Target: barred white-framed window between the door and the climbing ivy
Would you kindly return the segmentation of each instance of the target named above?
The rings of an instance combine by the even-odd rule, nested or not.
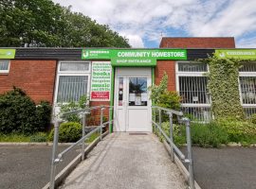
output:
[[[209,122],[211,118],[207,72],[206,63],[185,61],[176,64],[176,89],[182,98],[182,111],[194,121]]]

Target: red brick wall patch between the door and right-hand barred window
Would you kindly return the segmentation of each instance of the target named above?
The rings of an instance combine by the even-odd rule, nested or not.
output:
[[[157,60],[155,67],[155,84],[159,85],[164,72],[168,75],[168,90],[175,91],[175,61],[174,60]]]

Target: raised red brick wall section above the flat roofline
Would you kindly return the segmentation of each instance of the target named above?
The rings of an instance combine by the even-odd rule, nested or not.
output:
[[[160,48],[235,48],[230,38],[162,38]]]

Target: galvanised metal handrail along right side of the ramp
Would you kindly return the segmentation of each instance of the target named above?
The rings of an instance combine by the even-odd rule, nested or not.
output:
[[[187,150],[188,150],[188,158],[179,150],[179,148],[174,144],[174,127],[173,127],[173,115],[176,114],[178,116],[182,116],[183,112],[174,111],[171,109],[166,109],[162,107],[153,106],[152,109],[158,110],[159,120],[158,124],[156,120],[152,120],[153,125],[155,126],[155,130],[158,129],[160,133],[164,136],[166,141],[169,143],[171,147],[171,157],[174,162],[174,151],[178,155],[178,157],[184,162],[189,163],[189,184],[190,188],[194,189],[194,180],[193,180],[193,168],[192,168],[192,139],[191,139],[191,120],[187,117],[183,117],[181,122],[186,126],[186,140],[187,140]],[[167,112],[169,114],[169,122],[170,122],[170,137],[165,133],[165,131],[161,128],[162,120],[161,120],[161,112]]]

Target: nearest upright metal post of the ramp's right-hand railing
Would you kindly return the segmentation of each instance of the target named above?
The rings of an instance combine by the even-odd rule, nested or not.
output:
[[[193,180],[193,170],[192,170],[192,138],[191,138],[191,120],[189,118],[184,118],[186,126],[186,135],[187,135],[187,148],[188,148],[188,159],[189,159],[189,182],[191,189],[194,189],[194,180]]]

